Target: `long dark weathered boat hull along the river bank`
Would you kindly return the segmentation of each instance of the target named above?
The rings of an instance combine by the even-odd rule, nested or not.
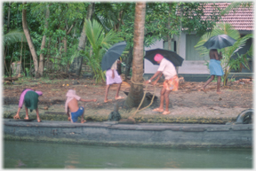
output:
[[[118,124],[4,120],[4,138],[76,144],[252,148],[252,124]]]

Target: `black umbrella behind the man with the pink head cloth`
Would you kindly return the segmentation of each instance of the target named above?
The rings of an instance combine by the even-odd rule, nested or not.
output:
[[[146,51],[146,55],[144,58],[147,58],[154,65],[158,65],[154,60],[156,54],[159,53],[164,56],[167,60],[171,61],[174,66],[181,66],[184,58],[180,57],[175,51],[168,51],[163,49],[155,49]]]

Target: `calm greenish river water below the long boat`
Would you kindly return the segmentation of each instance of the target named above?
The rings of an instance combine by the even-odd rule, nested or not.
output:
[[[4,168],[252,168],[252,149],[174,149],[4,140]]]

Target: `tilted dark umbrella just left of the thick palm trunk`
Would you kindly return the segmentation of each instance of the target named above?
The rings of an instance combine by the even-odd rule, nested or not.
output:
[[[110,67],[116,62],[116,60],[122,55],[124,48],[126,47],[125,42],[116,43],[104,54],[101,61],[102,71],[110,69]]]

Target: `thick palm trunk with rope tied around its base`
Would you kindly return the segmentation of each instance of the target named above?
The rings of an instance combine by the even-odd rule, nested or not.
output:
[[[136,3],[134,19],[134,47],[132,59],[132,85],[124,105],[138,107],[143,97],[143,50],[146,2]],[[135,82],[135,83],[133,83]],[[146,101],[144,101],[146,102]],[[145,106],[144,103],[141,106]]]

